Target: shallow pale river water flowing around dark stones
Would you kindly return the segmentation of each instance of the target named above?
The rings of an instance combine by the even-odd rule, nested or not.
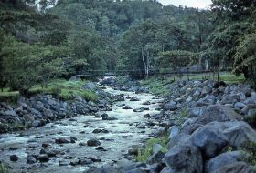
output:
[[[125,92],[113,90],[110,87],[105,89],[112,95],[123,94],[125,97],[137,97],[140,101],[116,102],[112,105],[112,111],[106,112],[109,117],[116,117],[117,120],[105,121],[94,116],[80,116],[70,119],[64,119],[59,122],[50,123],[44,127],[30,128],[25,131],[0,135],[0,160],[3,160],[10,166],[10,172],[83,172],[91,167],[99,167],[107,162],[127,159],[129,148],[134,145],[142,145],[146,139],[154,134],[158,126],[145,126],[148,119],[144,118],[145,114],[157,114],[155,110],[159,107],[160,99],[155,99],[150,94],[134,94],[133,92]],[[152,104],[144,106],[143,103],[149,101]],[[144,112],[133,112],[133,109],[124,110],[122,104],[134,108],[148,107],[149,110]],[[104,113],[104,112],[100,112]],[[87,125],[86,127],[84,127]],[[141,126],[138,126],[141,125]],[[109,133],[92,133],[94,129],[106,129]],[[59,145],[55,143],[58,137],[76,137],[76,143]],[[101,147],[105,150],[96,150],[96,147],[87,145],[80,146],[79,143],[85,143],[91,137],[95,137],[101,141]],[[56,157],[50,158],[48,162],[27,164],[27,154],[39,154],[42,144],[48,143],[47,149],[58,151]],[[10,148],[15,148],[12,150]],[[10,155],[17,155],[16,162],[10,161]],[[92,157],[100,158],[100,162],[93,162],[89,165],[65,165],[59,166],[59,162],[69,163],[75,158]],[[72,158],[72,159],[70,159]]]

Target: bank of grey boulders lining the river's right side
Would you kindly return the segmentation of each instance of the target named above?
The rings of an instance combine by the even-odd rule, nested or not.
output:
[[[255,172],[256,93],[250,86],[196,80],[166,88],[161,113],[149,118],[170,126],[167,145],[152,145],[144,163],[87,172]]]

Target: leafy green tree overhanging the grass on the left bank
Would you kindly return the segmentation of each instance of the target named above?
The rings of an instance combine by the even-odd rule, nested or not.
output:
[[[68,55],[60,47],[29,45],[6,36],[0,56],[7,86],[23,92],[38,82],[46,86],[50,78],[64,73],[62,66]]]

